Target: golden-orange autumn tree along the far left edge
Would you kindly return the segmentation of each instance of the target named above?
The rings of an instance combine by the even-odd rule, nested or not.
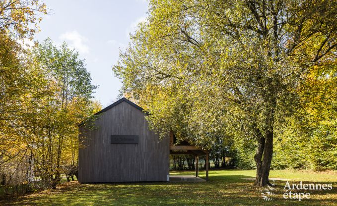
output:
[[[32,39],[40,14],[46,13],[46,5],[39,0],[0,1],[0,175],[5,193],[8,185],[15,186],[14,194],[19,184],[31,180],[34,104],[29,100],[39,80],[19,43]]]

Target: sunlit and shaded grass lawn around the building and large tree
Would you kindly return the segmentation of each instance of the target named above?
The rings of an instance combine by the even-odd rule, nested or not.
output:
[[[193,175],[194,172],[171,172],[171,175]],[[203,171],[200,177],[205,177]],[[265,201],[261,196],[262,188],[255,187],[252,181],[241,179],[255,177],[254,170],[210,170],[208,182],[197,183],[124,183],[124,184],[62,184],[57,190],[48,190],[19,197],[10,201],[0,201],[0,205],[26,206],[138,206],[138,205],[209,205],[209,206],[325,206],[337,203],[337,172],[312,172],[305,170],[273,170],[270,177],[290,179],[291,183],[313,182],[332,183],[332,190],[297,191],[309,192],[309,200],[285,200],[283,190],[285,182],[275,181],[275,196]],[[296,191],[292,191],[296,192]]]

